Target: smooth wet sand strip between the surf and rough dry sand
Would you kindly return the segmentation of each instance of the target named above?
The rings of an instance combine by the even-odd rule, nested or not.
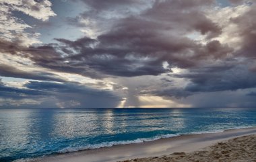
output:
[[[102,147],[99,149],[88,149],[69,153],[59,153],[38,157],[34,159],[23,159],[18,161],[31,162],[99,162],[99,161],[124,161],[127,159],[136,159],[142,157],[153,157],[169,155],[174,152],[193,152],[214,145],[223,140],[236,138],[238,136],[256,134],[256,127],[235,128],[222,130],[222,132],[207,132],[201,134],[181,134],[169,138],[160,138],[157,140],[143,143],[131,143],[125,145],[114,145],[111,147]]]

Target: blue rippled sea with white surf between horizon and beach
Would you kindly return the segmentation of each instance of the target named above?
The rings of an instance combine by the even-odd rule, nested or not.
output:
[[[0,110],[0,161],[256,126],[256,109]]]

